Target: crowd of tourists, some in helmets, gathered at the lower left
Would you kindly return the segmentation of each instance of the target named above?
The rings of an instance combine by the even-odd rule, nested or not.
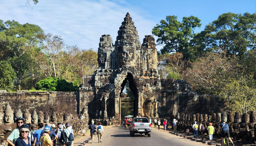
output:
[[[23,117],[16,119],[17,128],[14,129],[7,138],[7,143],[11,146],[72,146],[74,132],[70,123],[65,125],[58,123],[58,130],[55,124],[38,123],[38,130],[33,131],[30,124],[25,124]]]

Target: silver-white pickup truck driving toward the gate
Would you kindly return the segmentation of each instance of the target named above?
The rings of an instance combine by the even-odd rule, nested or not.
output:
[[[145,134],[151,137],[151,123],[147,118],[133,118],[130,124],[130,135],[134,137],[135,133]]]

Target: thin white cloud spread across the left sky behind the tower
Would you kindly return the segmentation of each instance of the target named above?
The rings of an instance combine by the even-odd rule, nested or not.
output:
[[[157,22],[143,17],[139,7],[122,6],[108,0],[40,0],[37,5],[25,5],[26,0],[1,0],[0,19],[32,23],[46,33],[61,35],[66,45],[80,49],[98,50],[99,38],[110,34],[113,43],[117,31],[129,12],[142,43],[144,35],[151,35]]]

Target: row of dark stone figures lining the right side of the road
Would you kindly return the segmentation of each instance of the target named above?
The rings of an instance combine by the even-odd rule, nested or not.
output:
[[[219,128],[222,119],[226,120],[226,123],[229,126],[230,135],[234,141],[242,139],[244,141],[256,142],[256,112],[249,111],[248,113],[240,114],[235,112],[233,115],[232,111],[217,113],[213,115],[207,114],[179,114],[177,113],[175,119],[178,120],[177,129],[185,131],[187,128],[190,128],[192,131],[192,126],[194,121],[204,124],[208,127],[209,123],[212,123],[215,130]]]

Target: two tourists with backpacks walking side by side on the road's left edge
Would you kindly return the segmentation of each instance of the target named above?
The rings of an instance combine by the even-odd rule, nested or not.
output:
[[[94,120],[92,120],[92,123],[89,125],[89,129],[90,129],[90,134],[92,139],[91,143],[94,143],[93,141],[94,141],[95,135],[98,135],[99,143],[102,142],[101,138],[102,138],[102,135],[104,134],[102,123],[99,122],[97,125],[95,125]]]

